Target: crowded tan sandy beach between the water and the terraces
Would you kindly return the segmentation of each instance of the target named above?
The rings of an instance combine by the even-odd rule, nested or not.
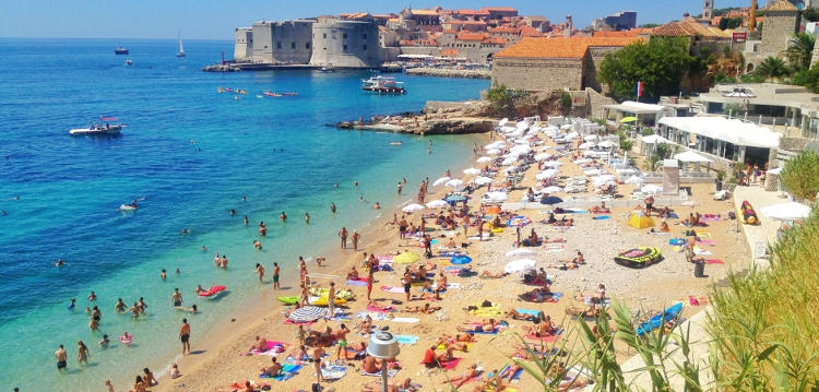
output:
[[[554,146],[555,143],[541,135],[542,142],[533,142],[533,149],[546,145]],[[488,143],[486,138],[485,143]],[[497,140],[497,136],[496,139]],[[541,144],[542,143],[542,144]],[[554,150],[553,150],[554,151]],[[482,150],[479,153],[483,153]],[[483,155],[483,154],[482,154]],[[474,176],[462,174],[462,169],[474,166],[477,168],[486,167],[486,164],[472,162],[464,163],[461,168],[451,168],[452,177],[460,177],[468,182]],[[574,177],[582,176],[582,169],[572,163],[570,156],[560,157],[559,176]],[[490,164],[491,165],[491,164]],[[517,202],[521,200],[530,187],[535,187],[538,180],[535,179],[538,167],[537,163],[532,164],[525,173],[522,174],[520,182],[509,192],[509,201]],[[499,166],[502,170],[505,167]],[[447,168],[441,168],[440,176],[444,175]],[[430,177],[430,181],[436,178]],[[503,180],[503,173],[498,171],[495,177],[492,188]],[[563,181],[559,180],[558,182]],[[412,198],[415,202],[415,192],[417,183],[406,183],[404,186],[402,201]],[[429,193],[426,201],[440,199],[443,192],[451,190],[443,186],[429,186]],[[629,198],[632,187],[620,183],[618,193],[626,199]],[[410,304],[395,305],[399,310],[391,313],[394,318],[408,318],[408,322],[397,322],[390,319],[377,320],[378,326],[389,326],[389,332],[396,335],[417,336],[414,344],[402,344],[401,354],[397,359],[401,364],[401,370],[391,378],[391,382],[403,382],[405,379],[412,379],[413,383],[420,387],[417,390],[434,391],[447,390],[447,381],[461,376],[467,371],[473,364],[483,369],[482,379],[486,379],[488,372],[501,370],[510,363],[508,356],[519,344],[515,334],[526,334],[526,328],[534,325],[530,321],[512,320],[502,316],[486,316],[497,319],[503,319],[508,326],[502,329],[498,334],[476,334],[477,341],[472,343],[466,352],[455,351],[454,356],[461,358],[460,363],[451,370],[428,369],[420,365],[425,352],[430,348],[442,335],[454,335],[459,326],[467,326],[464,323],[470,321],[483,320],[480,316],[468,314],[464,308],[480,304],[485,300],[499,304],[502,312],[515,308],[525,308],[536,311],[543,311],[551,317],[553,321],[560,325],[568,325],[573,322],[566,316],[566,309],[569,307],[584,307],[583,298],[580,294],[593,295],[598,284],[604,284],[608,297],[621,299],[633,309],[643,311],[662,310],[675,301],[684,301],[686,307],[684,317],[690,317],[699,309],[697,306],[689,306],[689,296],[702,297],[707,294],[709,287],[723,278],[728,269],[743,269],[745,265],[735,265],[735,262],[744,259],[743,254],[748,253],[748,247],[741,233],[734,228],[735,221],[725,218],[728,211],[733,210],[731,201],[712,200],[713,185],[693,185],[691,186],[691,198],[696,205],[674,206],[673,211],[681,218],[686,218],[691,212],[700,214],[721,215],[719,221],[708,222],[708,227],[698,229],[708,231],[703,238],[705,241],[698,247],[710,254],[704,258],[710,260],[720,260],[722,263],[710,263],[705,266],[707,277],[693,277],[693,264],[686,262],[682,252],[674,249],[669,245],[670,238],[685,237],[682,233],[688,227],[680,224],[681,219],[667,219],[670,234],[652,234],[649,228],[638,229],[627,224],[628,217],[632,212],[629,207],[613,207],[610,213],[605,214],[609,218],[598,219],[600,214],[592,213],[572,213],[566,216],[574,219],[571,227],[555,227],[544,221],[548,217],[545,210],[520,210],[514,215],[522,215],[531,219],[531,224],[521,228],[521,237],[530,234],[534,229],[541,237],[546,236],[550,240],[562,239],[562,242],[547,242],[544,247],[529,247],[535,252],[531,259],[537,262],[537,268],[544,268],[548,275],[554,275],[550,289],[553,293],[561,293],[562,297],[556,302],[529,302],[521,299],[520,295],[530,292],[535,286],[525,285],[522,282],[521,274],[512,273],[499,278],[482,278],[477,274],[484,270],[490,273],[501,273],[507,262],[511,261],[507,257],[508,251],[517,248],[517,233],[514,227],[506,227],[494,234],[492,237],[484,241],[477,241],[471,238],[477,235],[476,227],[470,227],[467,235],[464,236],[463,228],[460,227],[461,221],[456,219],[459,227],[455,230],[442,230],[439,225],[435,224],[435,218],[427,218],[428,234],[438,239],[432,245],[432,252],[436,257],[428,259],[435,264],[438,273],[452,266],[449,258],[437,257],[444,241],[452,238],[455,243],[466,245],[462,249],[463,253],[472,258],[470,268],[475,274],[447,274],[448,282],[454,284],[441,294],[441,300],[427,301],[422,299],[412,300]],[[482,207],[482,195],[487,192],[486,187],[479,187],[470,197],[468,206],[471,212],[479,211]],[[562,192],[553,193],[565,198]],[[402,203],[403,204],[403,203]],[[661,203],[657,203],[661,204]],[[690,203],[695,204],[695,203]],[[423,213],[438,213],[440,210],[427,209]],[[400,206],[394,211],[399,216],[402,215]],[[368,337],[355,333],[353,326],[361,320],[357,319],[356,313],[365,310],[367,307],[366,288],[361,286],[351,286],[345,282],[346,272],[355,265],[360,275],[364,277],[363,268],[364,252],[379,256],[394,254],[396,251],[405,252],[412,250],[423,254],[423,248],[419,247],[418,239],[400,239],[397,227],[389,224],[392,219],[393,211],[384,210],[381,218],[371,223],[365,231],[361,231],[361,246],[357,252],[348,249],[330,249],[323,252],[327,257],[327,266],[318,268],[314,261],[308,262],[310,273],[327,275],[337,275],[334,280],[340,289],[352,290],[356,299],[346,304],[345,313],[351,317],[343,321],[324,321],[319,320],[309,328],[313,331],[323,331],[327,326],[337,330],[341,322],[353,331],[348,337],[349,346],[358,345],[366,342]],[[419,224],[422,212],[416,212],[406,216],[407,221]],[[485,217],[491,218],[494,214],[485,214]],[[557,214],[560,218],[563,214]],[[658,225],[660,217],[654,217]],[[506,219],[503,221],[506,223]],[[429,229],[432,229],[431,231]],[[655,229],[657,226],[655,226]],[[349,246],[349,245],[348,245]],[[662,250],[664,260],[655,265],[645,269],[630,269],[615,263],[614,258],[621,251],[636,247],[655,247]],[[571,260],[577,251],[581,251],[585,259],[585,264],[577,269],[560,270],[557,268],[560,261]],[[322,254],[317,250],[317,254]],[[306,254],[314,257],[316,254]],[[424,259],[422,259],[424,260]],[[419,262],[410,264],[415,265]],[[245,380],[254,383],[269,384],[272,391],[309,391],[312,382],[316,382],[316,376],[312,364],[305,364],[292,378],[286,381],[276,381],[273,379],[259,378],[260,369],[270,366],[271,355],[247,355],[249,348],[254,343],[256,336],[263,336],[268,341],[284,342],[289,346],[286,352],[276,356],[280,363],[293,353],[294,344],[298,345],[296,335],[297,325],[285,324],[286,317],[283,311],[288,307],[282,305],[276,297],[278,296],[298,296],[298,275],[296,271],[283,271],[282,289],[274,290],[271,283],[272,261],[264,265],[268,270],[265,274],[266,288],[264,293],[256,298],[252,304],[246,307],[237,308],[230,320],[218,324],[211,330],[207,335],[203,336],[195,331],[193,325],[192,351],[194,355],[179,358],[176,363],[182,373],[180,378],[170,379],[167,375],[159,378],[159,383],[152,388],[153,391],[233,391],[230,387],[235,382],[244,385]],[[388,293],[379,289],[381,286],[401,286],[402,273],[405,264],[393,264],[392,272],[377,272],[375,274],[375,288],[372,297],[379,304],[389,304],[390,301],[403,301],[403,293]],[[436,277],[437,278],[437,277]],[[318,278],[314,284],[320,287],[328,287],[330,278]],[[412,295],[419,298],[419,288],[413,287]],[[701,305],[702,299],[700,300]],[[442,309],[431,314],[419,314],[403,311],[407,306],[439,306]],[[488,314],[488,313],[485,313]],[[414,320],[417,319],[417,320]],[[307,328],[307,326],[306,326]],[[311,353],[311,347],[308,352]],[[336,347],[329,347],[325,351],[330,354],[329,358],[335,360]],[[442,349],[437,349],[436,354],[442,354]],[[619,354],[627,358],[630,356],[625,348],[620,348]],[[633,354],[633,353],[632,353]],[[341,364],[340,364],[341,365]],[[359,391],[364,384],[379,382],[378,377],[365,376],[361,373],[361,360],[343,360],[346,366],[346,375],[332,382],[322,382],[324,390],[336,391]],[[473,390],[483,383],[482,380],[475,379],[466,382],[460,390]],[[531,376],[523,373],[519,379],[511,382],[513,389],[509,390],[533,390],[536,381]]]

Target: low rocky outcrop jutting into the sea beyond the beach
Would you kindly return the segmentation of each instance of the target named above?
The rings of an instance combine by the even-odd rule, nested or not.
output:
[[[498,120],[483,116],[483,100],[428,102],[420,114],[404,112],[342,121],[340,129],[412,134],[467,134],[491,132]]]

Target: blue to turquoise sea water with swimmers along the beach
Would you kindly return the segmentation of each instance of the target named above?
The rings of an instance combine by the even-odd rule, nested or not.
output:
[[[117,45],[131,55],[115,56]],[[0,39],[0,210],[8,213],[0,215],[0,388],[99,390],[100,380],[130,380],[146,364],[170,359],[182,317],[169,306],[174,287],[203,311],[191,318],[195,337],[264,289],[252,284],[257,262],[269,274],[273,261],[293,269],[297,256],[334,245],[341,226],[363,228],[376,217],[372,202],[399,202],[402,177],[414,190],[472,154],[470,138],[325,123],[419,110],[427,99],[477,98],[488,87],[482,80],[397,75],[408,94],[378,96],[359,90],[368,72],[204,73],[199,69],[232,52],[232,44],[186,41],[186,49],[188,58],[177,59],[174,40]],[[132,67],[123,66],[127,58]],[[217,94],[219,86],[248,94],[235,99]],[[264,90],[299,95],[257,98]],[[118,116],[128,128],[118,139],[68,135],[99,115]],[[404,144],[389,144],[396,140]],[[144,198],[136,212],[117,211],[136,198]],[[261,252],[251,246],[259,221],[269,228]],[[214,269],[215,252],[227,254],[227,271]],[[68,265],[55,268],[58,258]],[[212,283],[226,285],[228,295],[193,298],[198,284]],[[88,330],[83,311],[93,306],[90,290],[103,312],[98,332]],[[147,320],[116,314],[119,297],[129,305],[144,297]],[[116,341],[126,330],[134,335],[131,347],[96,346],[103,333]],[[88,366],[76,365],[78,340],[91,347]],[[69,351],[63,376],[55,369],[58,344]]]

